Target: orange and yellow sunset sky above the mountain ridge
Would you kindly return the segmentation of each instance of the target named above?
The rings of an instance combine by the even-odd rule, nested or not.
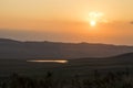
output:
[[[133,0],[0,0],[0,37],[133,45]]]

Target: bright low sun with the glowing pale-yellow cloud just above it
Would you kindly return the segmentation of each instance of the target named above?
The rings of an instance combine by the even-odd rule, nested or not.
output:
[[[98,23],[103,21],[102,12],[90,12],[89,13],[89,23],[91,26],[95,26]]]

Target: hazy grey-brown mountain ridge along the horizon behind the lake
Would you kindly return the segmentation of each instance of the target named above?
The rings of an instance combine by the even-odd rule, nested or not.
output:
[[[109,57],[133,52],[133,46],[90,43],[20,42],[0,38],[0,58]]]

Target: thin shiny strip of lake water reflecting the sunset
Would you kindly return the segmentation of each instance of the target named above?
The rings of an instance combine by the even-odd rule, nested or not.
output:
[[[31,63],[60,63],[60,64],[65,64],[68,63],[68,61],[65,59],[59,59],[59,61],[40,61],[40,59],[35,59],[35,61],[27,61],[27,62],[31,62]]]

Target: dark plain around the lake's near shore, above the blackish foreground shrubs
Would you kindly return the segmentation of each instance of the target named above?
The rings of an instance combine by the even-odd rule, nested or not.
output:
[[[133,68],[133,53],[109,58],[79,58],[69,59],[68,63],[35,63],[27,59],[0,59],[0,77],[7,77],[17,73],[33,77],[43,76],[47,72],[54,73],[55,77],[72,77],[80,75],[85,77],[93,70],[119,72]]]

